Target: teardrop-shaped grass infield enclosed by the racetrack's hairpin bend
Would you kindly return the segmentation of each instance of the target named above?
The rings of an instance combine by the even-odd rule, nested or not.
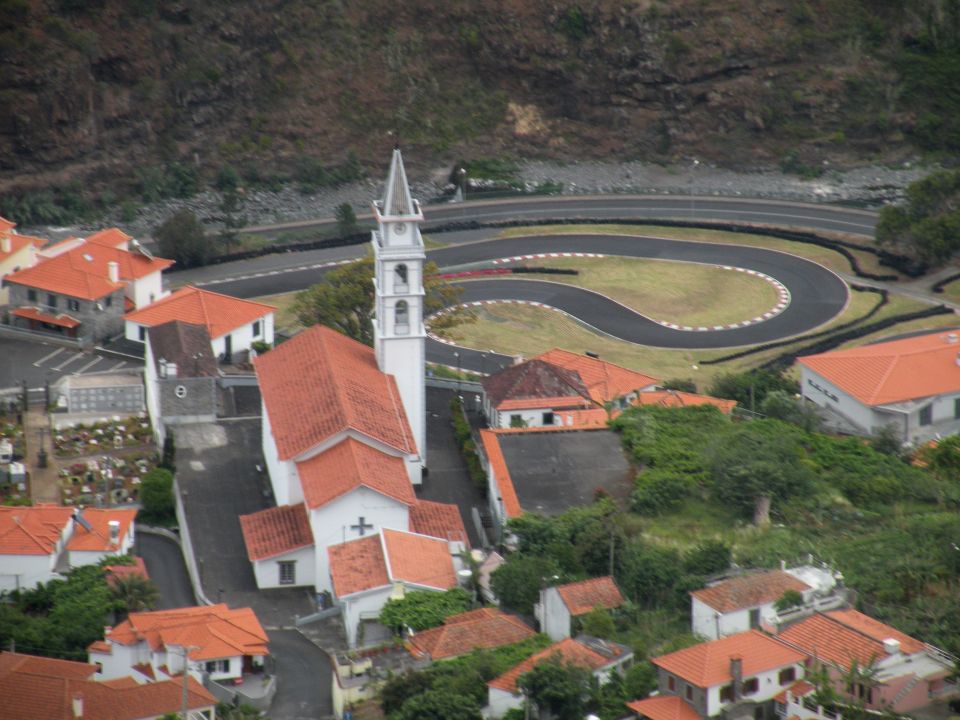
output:
[[[725,325],[762,315],[778,302],[776,288],[756,275],[699,263],[627,257],[550,258],[528,265],[574,269],[579,275],[508,275],[595,290],[655,320]]]

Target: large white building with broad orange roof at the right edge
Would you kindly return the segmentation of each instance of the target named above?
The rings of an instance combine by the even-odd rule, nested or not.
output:
[[[937,331],[797,358],[803,397],[829,424],[905,443],[960,431],[960,335]]]

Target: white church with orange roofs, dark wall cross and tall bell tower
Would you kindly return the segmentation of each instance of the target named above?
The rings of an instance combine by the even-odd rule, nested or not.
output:
[[[346,617],[348,596],[357,588],[363,588],[365,607],[371,594],[379,597],[388,586],[388,595],[403,587],[444,589],[429,582],[420,587],[399,577],[396,568],[422,556],[439,565],[422,577],[448,578],[467,547],[457,507],[414,494],[427,447],[425,256],[423,214],[410,195],[399,149],[384,198],[373,209],[374,347],[318,325],[256,358],[263,455],[277,507],[240,518],[260,588],[313,586],[343,603]],[[384,530],[393,531],[390,547]],[[386,575],[371,576],[362,566],[331,568],[331,558],[350,555],[337,546],[364,538],[367,547],[377,535]],[[443,557],[436,553],[437,539],[447,543]],[[398,547],[409,557],[393,557]],[[354,636],[348,623],[348,637]]]

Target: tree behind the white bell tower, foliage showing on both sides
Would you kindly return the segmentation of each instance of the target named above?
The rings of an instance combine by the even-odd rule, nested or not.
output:
[[[458,306],[463,289],[437,277],[429,262],[423,268],[424,316],[444,310],[431,321],[445,329],[470,322],[473,313]],[[293,313],[303,325],[326,325],[366,345],[373,344],[373,258],[366,257],[328,272],[323,281],[297,293]]]

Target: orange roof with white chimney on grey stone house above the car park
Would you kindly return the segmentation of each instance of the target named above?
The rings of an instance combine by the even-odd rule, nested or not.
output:
[[[119,266],[120,282],[110,281],[107,263]],[[8,275],[6,281],[84,300],[99,300],[127,282],[161,272],[173,260],[148,258],[138,252],[83,242],[72,250]]]

